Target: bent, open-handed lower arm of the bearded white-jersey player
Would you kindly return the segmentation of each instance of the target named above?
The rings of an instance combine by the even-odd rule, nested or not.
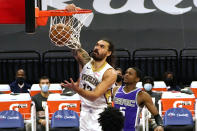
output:
[[[99,83],[95,90],[89,91],[79,87],[79,83],[74,82],[72,79],[71,83],[65,81],[65,84],[62,84],[63,87],[72,88],[75,92],[77,92],[82,97],[95,101],[97,98],[102,96],[116,81],[117,74],[114,69],[108,69],[104,75],[103,80]],[[91,87],[90,87],[91,88]]]

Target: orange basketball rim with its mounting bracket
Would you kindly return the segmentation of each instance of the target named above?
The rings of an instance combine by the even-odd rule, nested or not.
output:
[[[40,11],[35,8],[36,26],[45,26],[49,16],[72,16],[74,14],[88,14],[92,13],[89,9],[78,9],[77,11],[68,12],[67,10],[46,10]]]

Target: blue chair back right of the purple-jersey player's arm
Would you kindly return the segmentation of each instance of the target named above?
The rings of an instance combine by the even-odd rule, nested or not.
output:
[[[193,131],[192,113],[186,108],[168,109],[163,118],[165,131]]]

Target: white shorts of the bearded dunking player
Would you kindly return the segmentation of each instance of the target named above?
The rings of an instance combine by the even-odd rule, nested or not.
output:
[[[99,113],[103,109],[82,109],[80,113],[80,131],[102,131],[98,123]]]

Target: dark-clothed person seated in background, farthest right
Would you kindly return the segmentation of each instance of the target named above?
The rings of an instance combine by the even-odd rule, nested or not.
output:
[[[172,72],[164,73],[164,82],[167,86],[168,91],[180,91],[181,87],[177,84],[176,78]]]

